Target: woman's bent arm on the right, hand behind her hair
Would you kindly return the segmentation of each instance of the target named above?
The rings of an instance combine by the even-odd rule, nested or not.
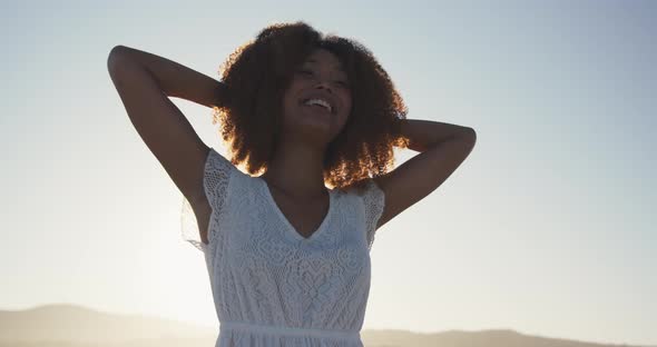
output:
[[[474,129],[439,121],[402,119],[400,130],[409,139],[408,148],[420,153],[373,179],[385,196],[376,228],[442,185],[477,141]]]

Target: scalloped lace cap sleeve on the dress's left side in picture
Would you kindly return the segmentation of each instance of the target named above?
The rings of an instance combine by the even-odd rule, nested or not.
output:
[[[234,170],[237,170],[237,168],[210,147],[205,159],[203,187],[207,201],[213,209],[213,215],[217,215],[224,208],[226,190]],[[208,222],[207,238],[209,244],[206,245],[200,240],[200,230],[194,209],[187,198],[183,196],[180,209],[180,232],[183,240],[206,252],[215,239],[214,234],[216,228],[213,228],[212,222],[212,220]]]

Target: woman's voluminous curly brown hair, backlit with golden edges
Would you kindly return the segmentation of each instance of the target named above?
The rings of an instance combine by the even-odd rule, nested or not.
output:
[[[365,179],[389,171],[393,147],[408,148],[401,120],[408,108],[374,56],[357,41],[324,36],[303,21],[274,23],[238,47],[219,67],[229,97],[213,108],[213,125],[229,142],[231,162],[266,170],[281,136],[283,93],[294,70],[317,48],[334,53],[351,83],[352,109],[324,153],[324,182],[363,188]]]

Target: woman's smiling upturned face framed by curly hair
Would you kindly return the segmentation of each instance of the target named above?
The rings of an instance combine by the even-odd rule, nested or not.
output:
[[[329,143],[342,130],[351,107],[350,81],[340,60],[316,49],[297,67],[285,90],[283,132]]]

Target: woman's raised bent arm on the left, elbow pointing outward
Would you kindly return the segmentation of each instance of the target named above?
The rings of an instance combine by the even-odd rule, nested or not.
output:
[[[227,100],[225,85],[166,58],[125,46],[110,51],[107,68],[148,149],[190,204],[203,202],[203,175],[210,148],[168,97],[207,107],[223,106]]]

